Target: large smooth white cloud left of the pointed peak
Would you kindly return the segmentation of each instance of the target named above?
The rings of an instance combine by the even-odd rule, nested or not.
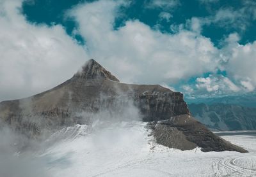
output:
[[[0,101],[55,87],[88,59],[61,25],[26,22],[19,11],[21,3],[1,0]]]

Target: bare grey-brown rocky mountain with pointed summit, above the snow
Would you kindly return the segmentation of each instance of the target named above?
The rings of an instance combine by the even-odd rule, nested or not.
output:
[[[170,148],[191,150],[199,146],[204,152],[246,152],[191,117],[180,92],[160,85],[120,83],[93,59],[51,90],[0,103],[1,124],[8,124],[29,138],[37,138],[45,130],[54,132],[76,124],[90,124],[93,115],[102,111],[111,117],[123,113],[128,119],[129,113],[138,111],[141,120],[148,122],[157,143]]]

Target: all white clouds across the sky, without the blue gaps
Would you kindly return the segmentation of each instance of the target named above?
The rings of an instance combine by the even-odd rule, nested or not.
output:
[[[170,29],[175,32],[170,34],[136,19],[114,29],[119,8],[129,6],[130,2],[83,3],[66,13],[79,25],[74,32],[85,39],[82,46],[61,25],[49,27],[26,21],[20,13],[22,1],[0,2],[1,101],[52,88],[70,78],[90,58],[99,61],[121,81],[159,83],[186,94],[249,92],[256,87],[256,43],[240,45],[239,36],[234,33],[217,48],[201,32],[202,25],[222,23],[224,26],[228,19],[243,19],[231,10],[221,9],[208,18],[193,17],[186,24],[172,24]],[[163,8],[166,2],[146,3],[147,8]],[[179,4],[172,1],[168,6],[177,8]],[[162,13],[159,18],[168,21],[172,15]],[[227,75],[222,76],[219,71]],[[207,78],[205,73],[211,76]],[[187,82],[191,78],[197,79]],[[211,81],[202,86],[204,80]],[[211,86],[205,85],[208,83]]]

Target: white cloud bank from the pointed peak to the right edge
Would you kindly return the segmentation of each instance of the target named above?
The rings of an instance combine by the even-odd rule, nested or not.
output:
[[[234,33],[223,39],[222,48],[217,48],[211,39],[201,34],[202,25],[227,22],[238,18],[237,13],[219,10],[213,17],[191,18],[177,28],[175,34],[157,31],[139,20],[128,20],[114,30],[118,8],[124,5],[122,1],[118,2],[80,4],[68,15],[79,23],[79,32],[86,39],[89,55],[108,66],[123,81],[175,85],[180,80],[197,77],[191,87],[198,94],[204,91],[217,95],[254,90],[254,44],[239,45],[239,36]],[[244,48],[252,50],[246,53]],[[218,71],[227,71],[228,75],[222,76]],[[198,86],[204,73],[211,73],[211,83],[216,87]]]

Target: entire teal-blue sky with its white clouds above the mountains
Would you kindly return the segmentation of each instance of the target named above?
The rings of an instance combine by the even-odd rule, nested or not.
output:
[[[185,97],[256,87],[256,1],[0,0],[0,101],[68,80],[88,59]]]

